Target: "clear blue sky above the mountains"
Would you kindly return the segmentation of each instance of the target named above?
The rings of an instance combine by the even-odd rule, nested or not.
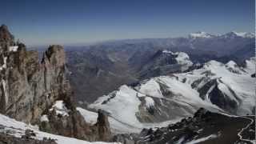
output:
[[[2,0],[0,24],[29,46],[254,32],[254,0]]]

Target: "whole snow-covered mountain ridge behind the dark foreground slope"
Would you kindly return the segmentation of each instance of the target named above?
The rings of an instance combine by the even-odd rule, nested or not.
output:
[[[138,129],[189,117],[199,107],[218,113],[254,114],[254,62],[255,58],[247,60],[244,67],[232,61],[206,62],[198,70],[121,86],[89,107],[106,110],[111,118]]]

